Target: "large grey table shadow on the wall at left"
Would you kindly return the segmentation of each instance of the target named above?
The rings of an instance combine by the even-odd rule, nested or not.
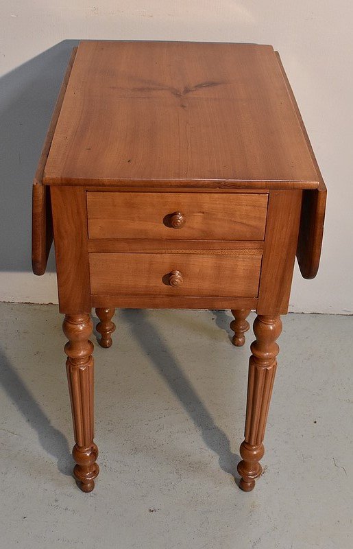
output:
[[[0,270],[32,270],[32,181],[78,42],[63,40],[0,78]],[[47,270],[55,271],[53,250]]]

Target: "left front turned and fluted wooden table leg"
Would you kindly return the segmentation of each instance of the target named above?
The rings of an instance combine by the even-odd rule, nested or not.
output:
[[[66,371],[69,381],[75,446],[73,458],[77,465],[73,474],[80,489],[90,492],[99,473],[96,460],[98,448],[93,442],[93,344],[88,340],[93,330],[89,314],[66,314],[63,324],[67,355]]]

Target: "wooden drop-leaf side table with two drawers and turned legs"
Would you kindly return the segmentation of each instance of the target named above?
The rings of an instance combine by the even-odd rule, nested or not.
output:
[[[54,239],[83,491],[93,441],[92,307],[102,347],[114,307],[255,309],[240,487],[260,476],[280,315],[295,255],[317,272],[326,187],[278,54],[267,45],[82,42],[33,187],[33,270]]]

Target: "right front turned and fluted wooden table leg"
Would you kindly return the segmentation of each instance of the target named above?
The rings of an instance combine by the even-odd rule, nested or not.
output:
[[[258,462],[265,452],[263,439],[279,351],[276,339],[281,330],[280,316],[257,316],[254,321],[256,340],[250,347],[245,440],[240,447],[242,460],[238,464],[242,477],[239,487],[244,491],[252,490],[255,479],[262,473]]]

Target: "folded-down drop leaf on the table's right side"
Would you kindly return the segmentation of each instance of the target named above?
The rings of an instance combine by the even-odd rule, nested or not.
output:
[[[304,279],[313,279],[316,277],[317,271],[319,269],[320,255],[321,255],[321,246],[322,238],[324,235],[324,221],[325,221],[325,211],[326,211],[326,196],[327,189],[324,183],[324,179],[321,175],[319,165],[315,158],[313,147],[311,146],[308,133],[304,126],[302,115],[297,106],[293,91],[291,89],[291,84],[284,71],[280,56],[276,51],[276,56],[280,69],[283,74],[284,81],[287,84],[287,89],[293,107],[295,108],[295,113],[297,114],[297,119],[299,120],[300,126],[302,128],[303,135],[306,140],[306,145],[311,154],[313,160],[313,165],[317,171],[317,178],[319,180],[319,187],[313,189],[312,191],[304,191],[302,199],[302,215],[300,220],[300,230],[299,230],[299,239],[297,244],[297,260],[300,268],[300,272]]]

